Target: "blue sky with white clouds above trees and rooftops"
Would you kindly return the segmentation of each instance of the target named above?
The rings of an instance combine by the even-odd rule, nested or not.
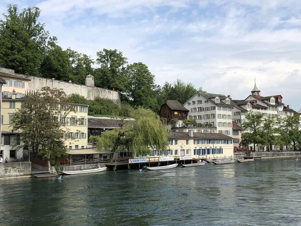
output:
[[[262,96],[301,108],[301,1],[2,0],[0,12],[8,4],[39,7],[62,48],[93,59],[117,49],[146,64],[156,84],[182,79],[245,99],[256,78]]]

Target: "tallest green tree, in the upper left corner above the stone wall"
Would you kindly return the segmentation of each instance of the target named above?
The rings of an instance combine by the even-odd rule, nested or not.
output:
[[[17,5],[8,6],[8,14],[0,20],[0,66],[39,75],[48,39],[45,25],[38,22],[40,13],[37,7],[19,13]]]

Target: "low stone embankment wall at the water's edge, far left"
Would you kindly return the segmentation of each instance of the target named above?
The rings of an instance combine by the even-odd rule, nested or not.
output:
[[[1,177],[30,176],[31,162],[12,162],[0,164]]]

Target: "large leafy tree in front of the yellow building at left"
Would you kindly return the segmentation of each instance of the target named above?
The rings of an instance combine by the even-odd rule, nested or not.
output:
[[[20,134],[23,146],[51,165],[66,157],[68,129],[63,119],[73,111],[62,89],[43,87],[28,95],[12,120],[12,131]],[[22,146],[20,146],[22,147]],[[19,148],[20,148],[19,147]]]

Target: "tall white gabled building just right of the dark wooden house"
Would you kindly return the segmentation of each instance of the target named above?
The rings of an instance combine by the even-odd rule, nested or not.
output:
[[[183,106],[190,110],[188,120],[196,120],[199,127],[216,127],[217,133],[232,136],[233,104],[230,96],[197,92]]]

